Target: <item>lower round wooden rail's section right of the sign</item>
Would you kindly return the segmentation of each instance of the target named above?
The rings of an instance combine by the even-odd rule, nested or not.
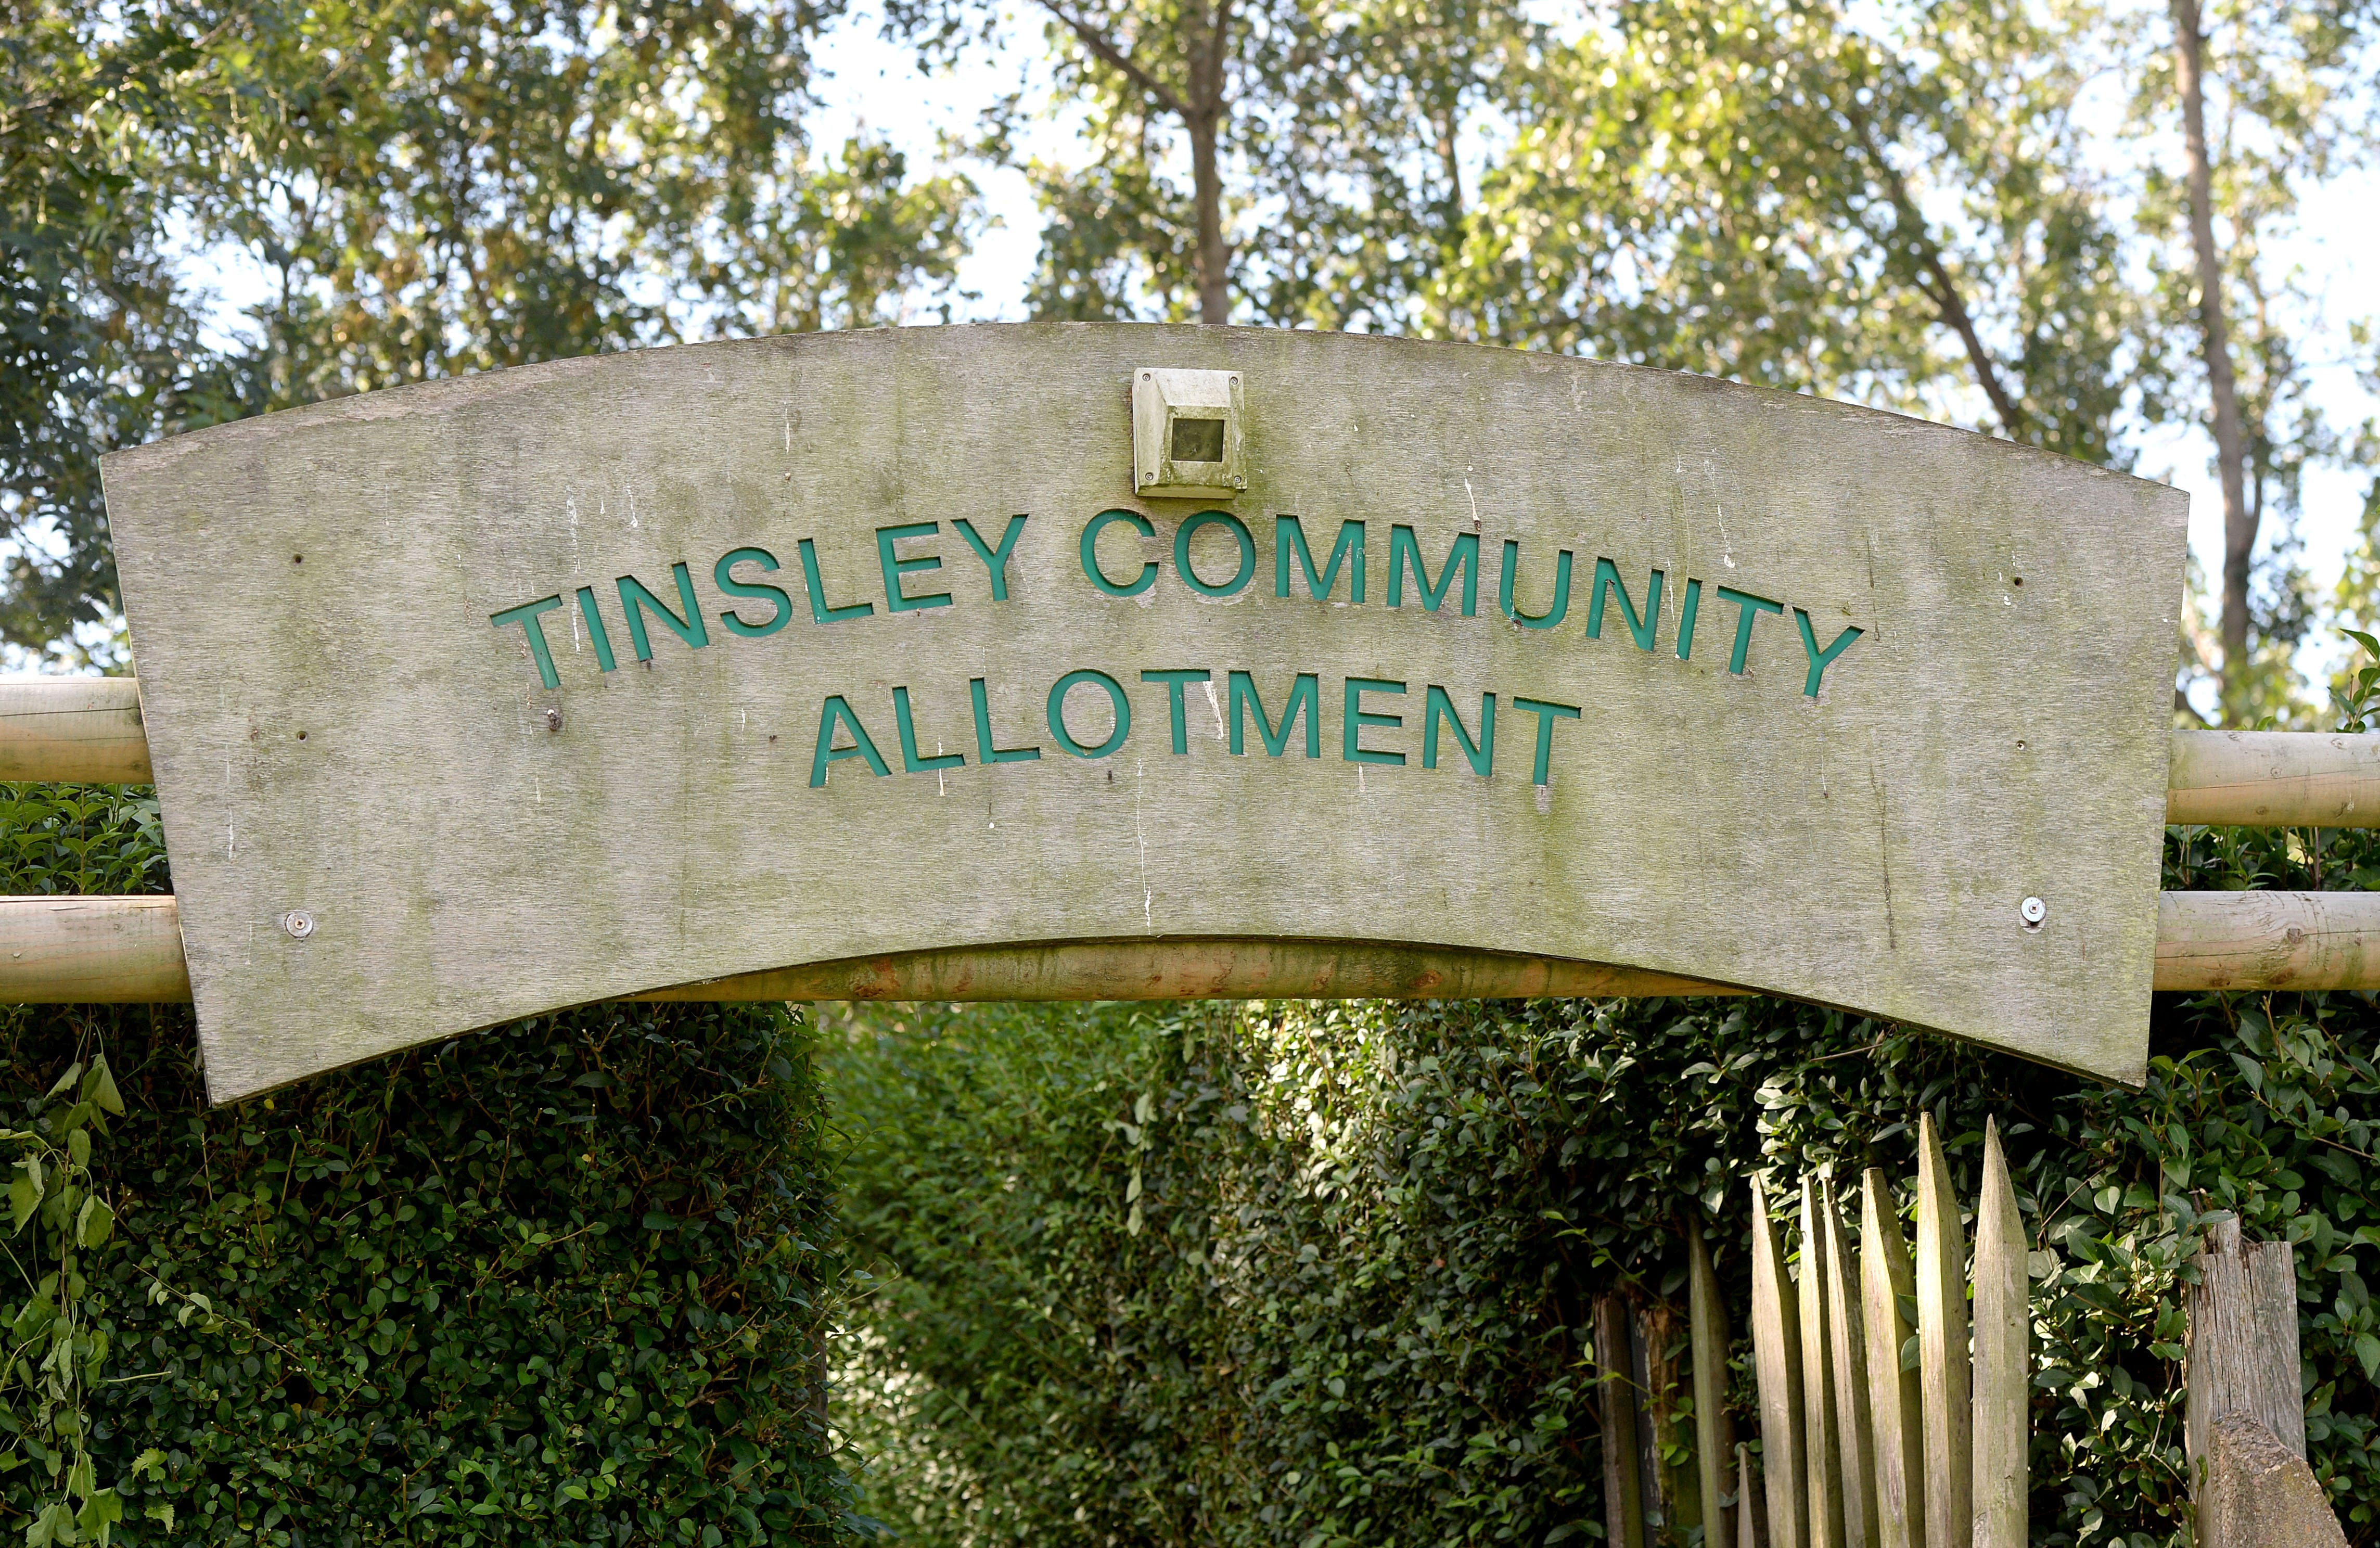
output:
[[[2163,893],[2159,988],[2380,988],[2380,893]]]

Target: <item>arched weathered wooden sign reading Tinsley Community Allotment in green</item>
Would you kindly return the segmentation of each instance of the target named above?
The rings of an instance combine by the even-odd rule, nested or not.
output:
[[[2147,1055],[2185,498],[2106,469],[1566,357],[1033,324],[526,367],[105,472],[217,1100],[1090,941]]]

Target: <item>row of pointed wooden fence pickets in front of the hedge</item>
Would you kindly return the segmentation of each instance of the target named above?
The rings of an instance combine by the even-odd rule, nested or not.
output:
[[[1880,1169],[1861,1176],[1856,1238],[1835,1179],[1804,1179],[1787,1257],[1768,1188],[1752,1179],[1759,1469],[1726,1424],[1726,1303],[1702,1231],[1690,1234],[1685,1348],[1697,1458],[1683,1477],[1699,1493],[1704,1548],[2023,1548],[2030,1303],[2025,1226],[1999,1126],[1985,1124],[1973,1269],[1930,1117],[1918,1122],[1911,1191],[1914,1253]],[[1628,1348],[1626,1317],[1616,1296],[1597,1305],[1599,1348]],[[1635,1460],[1645,1407],[1623,1386],[1604,1377],[1606,1441],[1618,1441],[1604,1474],[1614,1496],[1606,1529],[1614,1548],[1645,1548],[1635,1467],[1621,1462]]]

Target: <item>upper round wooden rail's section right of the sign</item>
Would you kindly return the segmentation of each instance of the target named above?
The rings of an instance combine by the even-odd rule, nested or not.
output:
[[[2166,822],[2380,826],[2380,734],[2175,731]]]

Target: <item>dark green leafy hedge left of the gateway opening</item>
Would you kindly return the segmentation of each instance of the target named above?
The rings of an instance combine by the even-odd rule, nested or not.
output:
[[[164,886],[136,795],[26,786],[0,824],[0,891]],[[800,1019],[602,1005],[209,1110],[186,1007],[12,1007],[0,1122],[64,1143],[38,1096],[95,1055],[124,1105],[90,1141],[117,1238],[83,1331],[114,1541],[859,1529],[823,1429],[845,1269]],[[0,1262],[17,1350],[31,1236]],[[57,1496],[26,1412],[0,1391],[0,1529]]]

